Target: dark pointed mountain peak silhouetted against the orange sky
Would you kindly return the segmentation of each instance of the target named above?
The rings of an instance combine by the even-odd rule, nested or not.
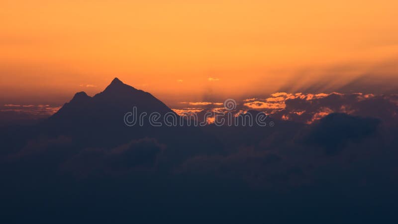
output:
[[[89,97],[85,92],[75,94],[73,99],[66,103],[58,112],[49,118],[51,122],[73,124],[81,122],[81,118],[98,117],[106,122],[112,118],[123,118],[123,114],[131,112],[136,107],[138,112],[167,112],[174,113],[161,101],[150,93],[137,90],[115,78],[105,90],[94,97]]]

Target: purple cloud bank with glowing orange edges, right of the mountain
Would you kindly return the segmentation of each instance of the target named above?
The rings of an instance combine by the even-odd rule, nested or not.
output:
[[[272,117],[312,123],[333,113],[378,117],[386,122],[397,120],[398,101],[394,94],[286,93],[271,94],[266,99],[243,100],[245,108],[271,114]],[[383,110],[379,110],[383,108]]]

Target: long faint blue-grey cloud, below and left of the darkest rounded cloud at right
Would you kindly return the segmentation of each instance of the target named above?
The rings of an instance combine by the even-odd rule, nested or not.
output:
[[[241,179],[252,187],[270,189],[307,183],[304,168],[296,163],[274,152],[244,147],[225,156],[190,158],[179,171],[185,175]]]

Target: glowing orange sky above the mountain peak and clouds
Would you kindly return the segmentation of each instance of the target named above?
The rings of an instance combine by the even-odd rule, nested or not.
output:
[[[398,74],[397,0],[0,0],[0,8],[1,103],[63,103],[114,77],[170,104]]]

